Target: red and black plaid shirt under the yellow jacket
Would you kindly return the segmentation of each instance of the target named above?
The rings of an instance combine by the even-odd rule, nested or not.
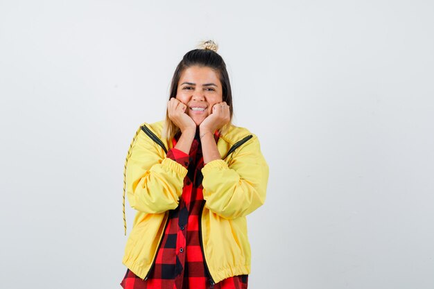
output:
[[[155,264],[148,279],[140,279],[127,269],[121,282],[124,289],[245,289],[248,275],[234,276],[216,284],[211,283],[200,247],[199,218],[203,204],[202,149],[198,132],[191,144],[189,155],[175,148],[178,134],[173,139],[173,148],[167,157],[187,168],[179,206],[169,211],[168,224]],[[214,134],[218,141],[218,132]]]

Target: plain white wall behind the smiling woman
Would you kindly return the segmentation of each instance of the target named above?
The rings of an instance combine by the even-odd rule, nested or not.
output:
[[[433,19],[428,0],[1,0],[0,287],[121,288],[128,147],[210,38],[270,166],[249,288],[434,288]]]

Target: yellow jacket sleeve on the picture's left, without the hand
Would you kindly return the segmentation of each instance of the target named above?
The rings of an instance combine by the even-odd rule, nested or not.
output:
[[[187,169],[170,157],[162,157],[160,150],[143,131],[132,145],[126,188],[128,202],[137,211],[163,213],[179,204]]]

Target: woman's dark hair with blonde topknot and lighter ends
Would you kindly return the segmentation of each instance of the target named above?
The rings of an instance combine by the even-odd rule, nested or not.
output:
[[[217,73],[217,76],[222,85],[223,101],[225,101],[227,105],[229,105],[229,123],[224,125],[223,128],[220,128],[219,130],[220,134],[224,134],[227,128],[229,128],[229,125],[231,125],[232,123],[232,114],[234,111],[232,108],[231,84],[229,82],[229,75],[227,74],[226,64],[223,61],[223,58],[216,52],[217,49],[218,46],[214,41],[207,40],[205,42],[200,42],[200,44],[198,45],[198,49],[193,49],[184,55],[181,62],[177,65],[175,73],[173,73],[169,100],[176,97],[177,85],[180,81],[181,74],[184,72],[185,69],[193,66],[209,67],[210,69],[213,69]],[[166,110],[166,121],[164,122],[162,137],[166,137],[166,139],[168,140],[172,139],[179,131],[180,128],[178,128],[175,123],[173,123],[173,121],[169,119],[168,112]]]

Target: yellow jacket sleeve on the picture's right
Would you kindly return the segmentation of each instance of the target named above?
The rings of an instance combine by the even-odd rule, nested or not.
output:
[[[202,168],[205,207],[227,219],[246,216],[266,200],[268,164],[254,136],[229,161],[209,161]]]

